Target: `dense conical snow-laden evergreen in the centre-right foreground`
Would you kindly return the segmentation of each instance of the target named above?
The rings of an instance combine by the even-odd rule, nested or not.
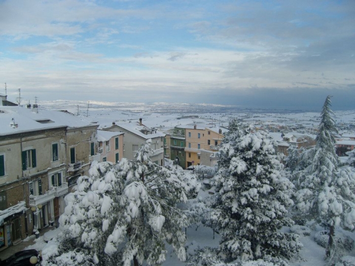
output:
[[[293,184],[280,173],[270,136],[231,121],[218,164],[211,222],[220,231],[220,250],[227,261],[297,253],[302,247],[298,235],[280,231],[293,224],[287,217]]]

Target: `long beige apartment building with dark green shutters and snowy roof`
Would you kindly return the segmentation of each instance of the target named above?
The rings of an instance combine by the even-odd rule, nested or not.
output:
[[[37,105],[0,106],[0,251],[54,225],[87,174],[97,125]]]

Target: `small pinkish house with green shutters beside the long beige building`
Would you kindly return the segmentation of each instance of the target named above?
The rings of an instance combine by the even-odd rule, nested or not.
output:
[[[123,132],[97,130],[99,162],[118,163],[123,157]]]

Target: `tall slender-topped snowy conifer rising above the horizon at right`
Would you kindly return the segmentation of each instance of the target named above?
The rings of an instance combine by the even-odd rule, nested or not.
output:
[[[355,175],[350,168],[340,168],[335,153],[337,132],[330,109],[331,97],[327,96],[321,113],[321,123],[316,145],[308,150],[308,166],[297,173],[296,208],[309,219],[327,222],[330,226],[329,244],[326,255],[331,256],[334,226],[344,229],[355,228]]]

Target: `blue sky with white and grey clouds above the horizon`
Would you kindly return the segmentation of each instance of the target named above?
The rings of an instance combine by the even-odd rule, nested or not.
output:
[[[16,100],[355,109],[355,1],[0,0]],[[18,99],[17,99],[18,100]]]

